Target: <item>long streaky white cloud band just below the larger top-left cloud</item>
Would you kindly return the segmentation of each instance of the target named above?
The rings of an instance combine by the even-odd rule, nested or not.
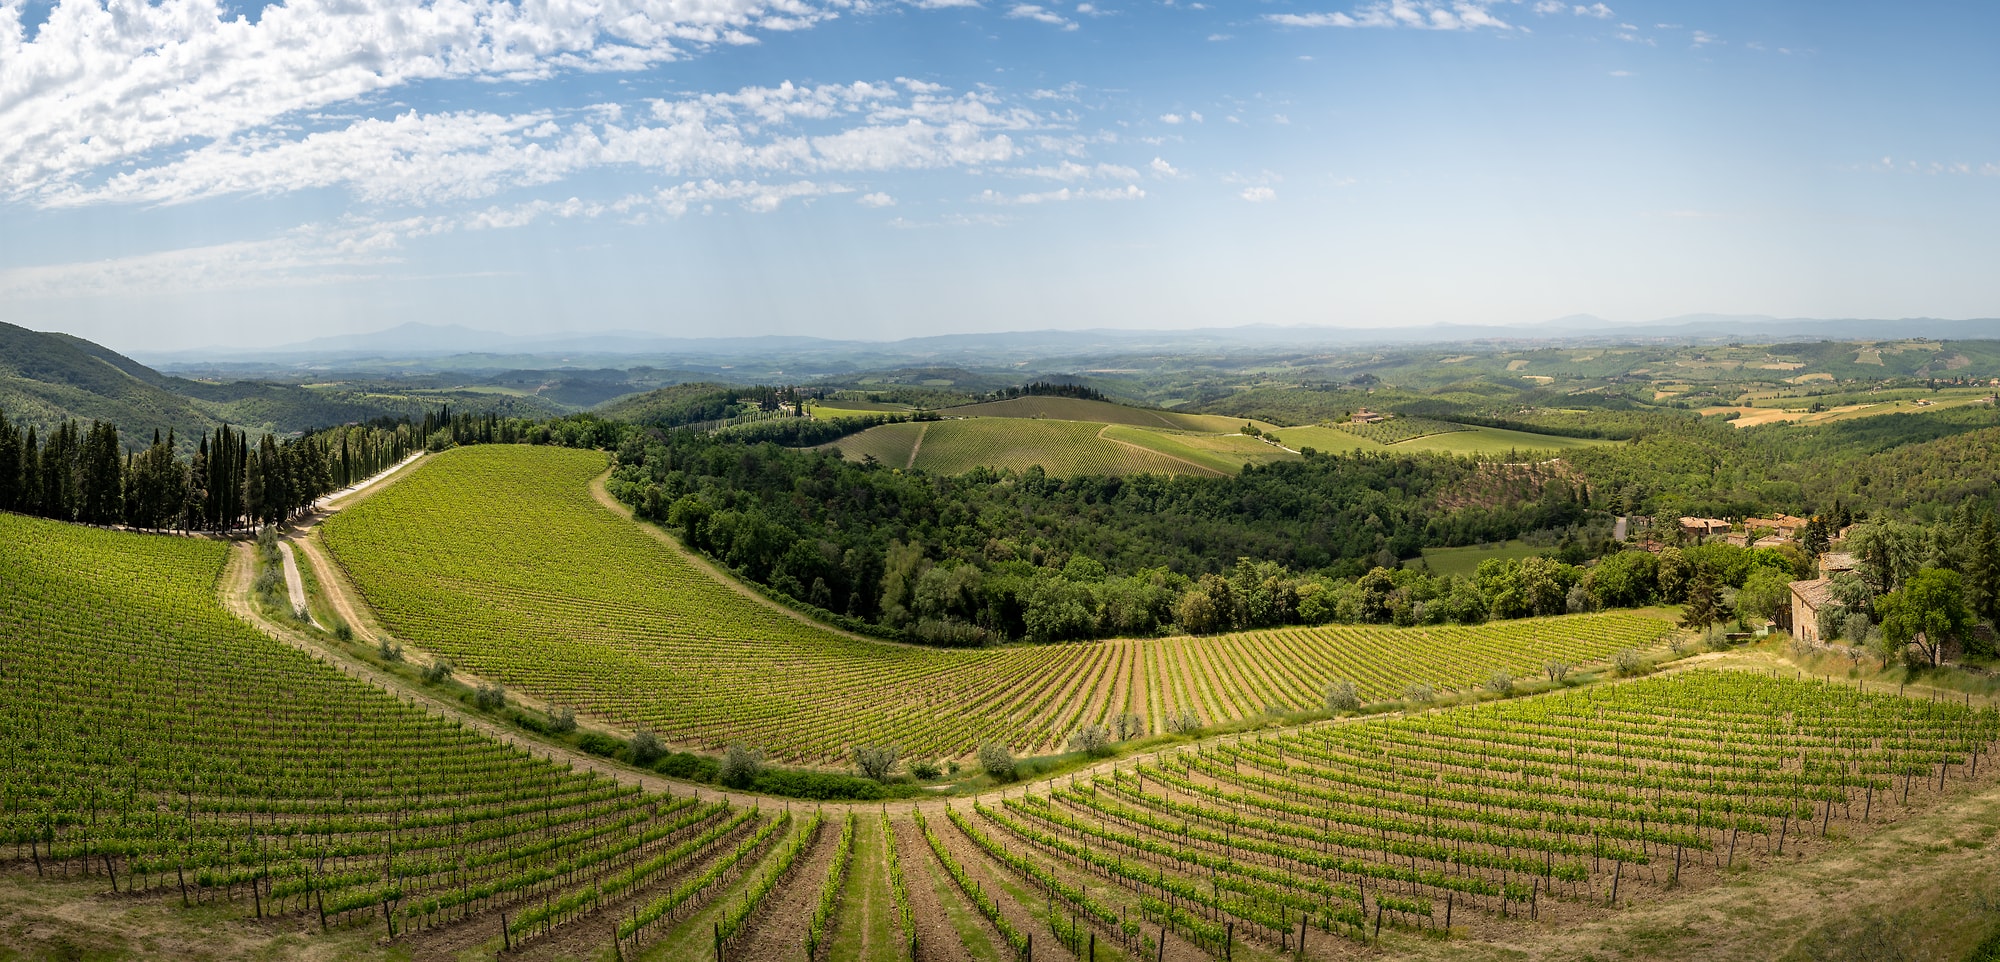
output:
[[[546,110],[410,110],[310,134],[256,132],[94,186],[46,190],[38,200],[176,204],[344,188],[378,204],[444,204],[610,166],[668,176],[978,166],[1022,154],[1008,132],[1072,124],[986,92],[954,96],[916,82],[742,88],[652,100],[638,122],[624,120],[628,114],[638,112],[596,106],[582,112],[590,120],[578,120]]]

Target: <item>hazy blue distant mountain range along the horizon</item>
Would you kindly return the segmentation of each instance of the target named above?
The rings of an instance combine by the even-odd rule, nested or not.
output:
[[[648,332],[578,332],[578,334],[498,334],[462,324],[402,324],[370,334],[340,334],[312,338],[276,348],[198,348],[178,352],[144,352],[164,368],[200,366],[202,362],[264,362],[264,364],[340,364],[362,358],[438,358],[484,354],[496,358],[556,358],[576,356],[576,362],[606,358],[672,358],[700,362],[774,358],[832,358],[872,364],[890,360],[954,360],[1004,356],[1080,356],[1132,350],[1304,350],[1410,346],[1454,342],[1662,342],[1662,340],[1868,340],[1868,338],[2000,338],[2000,318],[1772,318],[1762,314],[1684,314],[1648,322],[1614,322],[1590,314],[1572,314],[1540,324],[1474,326],[1430,324],[1414,328],[1314,328],[1250,324],[1240,328],[1190,330],[1018,330],[988,334],[934,334],[904,340],[812,338],[812,336],[750,336],[750,338],[676,338]],[[808,366],[822,366],[808,364]]]

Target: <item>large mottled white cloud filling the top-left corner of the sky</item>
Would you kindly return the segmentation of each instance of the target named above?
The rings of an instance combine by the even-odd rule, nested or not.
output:
[[[0,196],[424,80],[640,70],[834,16],[840,0],[60,0],[32,40],[0,6]]]

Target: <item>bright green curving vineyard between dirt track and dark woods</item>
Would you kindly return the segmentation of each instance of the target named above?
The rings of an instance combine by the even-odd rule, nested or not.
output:
[[[1668,624],[1590,614],[1478,628],[1284,628],[996,650],[848,638],[792,618],[596,504],[596,452],[446,452],[322,528],[386,626],[462,668],[626,728],[702,748],[744,742],[784,760],[850,744],[962,756],[1038,752],[1080,724],[1188,710],[1228,722],[1412,682],[1462,690],[1550,658],[1648,648]]]

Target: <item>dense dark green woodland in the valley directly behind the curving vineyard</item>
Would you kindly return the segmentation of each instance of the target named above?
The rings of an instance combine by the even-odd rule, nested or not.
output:
[[[928,644],[1330,620],[1338,582],[1424,546],[1574,526],[1588,498],[1560,474],[1428,454],[1228,478],[930,476],[658,430],[624,438],[610,490],[744,580]]]

